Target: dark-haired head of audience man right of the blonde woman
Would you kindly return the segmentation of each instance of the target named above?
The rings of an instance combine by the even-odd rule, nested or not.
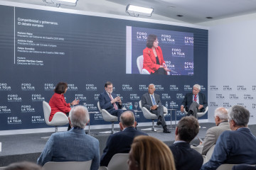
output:
[[[178,140],[183,140],[185,142],[191,142],[193,138],[198,135],[199,123],[198,120],[193,116],[186,116],[178,121],[176,127],[175,135]],[[177,139],[176,139],[177,140]]]

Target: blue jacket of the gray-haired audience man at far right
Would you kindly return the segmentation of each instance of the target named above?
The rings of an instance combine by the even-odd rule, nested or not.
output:
[[[228,130],[218,138],[210,161],[201,170],[217,169],[221,164],[256,164],[256,137],[249,128]]]

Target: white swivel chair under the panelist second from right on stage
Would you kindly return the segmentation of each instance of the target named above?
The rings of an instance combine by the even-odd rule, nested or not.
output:
[[[146,130],[146,131],[154,131],[156,132],[157,129],[160,128],[154,128],[154,120],[158,119],[157,115],[150,113],[149,110],[147,110],[145,107],[142,108],[142,101],[139,101],[139,108],[142,109],[142,113],[144,115],[144,117],[146,119],[151,119],[152,120],[152,128],[146,128],[146,129],[142,129],[142,130]],[[166,107],[164,107],[164,116],[168,113],[168,110]],[[161,129],[162,130],[162,129]]]

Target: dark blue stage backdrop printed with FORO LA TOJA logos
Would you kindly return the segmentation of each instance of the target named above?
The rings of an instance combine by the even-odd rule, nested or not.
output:
[[[177,109],[178,120],[183,116],[178,108],[193,84],[201,84],[207,97],[208,30],[14,6],[0,6],[0,23],[0,130],[48,128],[42,101],[50,100],[59,81],[68,83],[66,101],[78,98],[89,111],[98,111],[105,81],[112,81],[124,106],[132,104],[134,109],[147,86],[155,84],[164,106]],[[192,35],[192,53],[183,57],[192,55],[193,74],[127,74],[127,26],[145,33],[159,30],[158,36],[166,31]],[[137,67],[136,58],[131,60],[132,67]],[[90,119],[91,125],[106,124],[100,113]],[[137,112],[137,121],[150,120]]]

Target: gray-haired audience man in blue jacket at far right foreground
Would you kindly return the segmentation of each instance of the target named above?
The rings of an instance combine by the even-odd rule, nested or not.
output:
[[[256,137],[248,128],[250,112],[243,106],[228,110],[231,130],[218,138],[209,162],[201,170],[218,169],[221,164],[256,164]]]

